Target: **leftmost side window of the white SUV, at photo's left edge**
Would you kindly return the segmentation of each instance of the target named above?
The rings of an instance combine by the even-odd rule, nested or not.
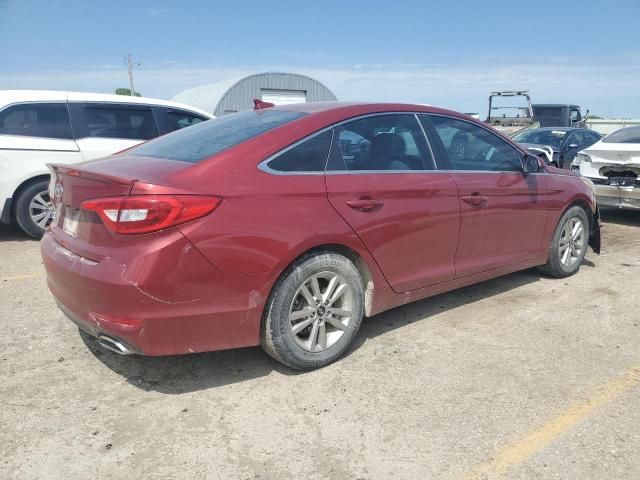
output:
[[[66,103],[24,103],[0,112],[0,135],[71,139]]]

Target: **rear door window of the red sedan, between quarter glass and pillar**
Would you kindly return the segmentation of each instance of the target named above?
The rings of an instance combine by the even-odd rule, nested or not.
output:
[[[374,115],[335,129],[327,170],[433,170],[433,158],[414,115]]]

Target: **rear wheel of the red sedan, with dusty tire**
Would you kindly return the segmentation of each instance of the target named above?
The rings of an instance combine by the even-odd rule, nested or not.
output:
[[[296,370],[324,367],[348,350],[364,312],[360,273],[333,252],[307,255],[278,280],[267,301],[260,340]]]

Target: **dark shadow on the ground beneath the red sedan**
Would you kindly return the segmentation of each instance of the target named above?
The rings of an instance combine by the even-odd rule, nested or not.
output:
[[[535,270],[513,273],[453,292],[394,308],[363,321],[347,355],[368,339],[403,328],[414,322],[428,325],[440,312],[484,300],[539,281]],[[269,357],[260,347],[196,353],[170,357],[120,356],[102,348],[97,340],[80,331],[89,350],[108,368],[142,390],[168,395],[207,390],[264,377],[274,372],[299,375]]]

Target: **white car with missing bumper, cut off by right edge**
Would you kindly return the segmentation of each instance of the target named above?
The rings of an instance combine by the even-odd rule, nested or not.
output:
[[[640,127],[607,135],[578,153],[571,169],[593,182],[598,204],[640,209]]]

